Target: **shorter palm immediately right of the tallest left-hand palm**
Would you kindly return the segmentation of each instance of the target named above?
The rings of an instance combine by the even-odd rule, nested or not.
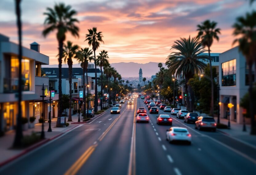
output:
[[[72,58],[79,58],[81,56],[81,52],[78,51],[79,46],[73,45],[71,41],[67,41],[67,44],[64,44],[63,49],[63,57],[64,57],[64,63],[68,63],[69,66],[69,119],[68,121],[72,121],[72,115],[71,115],[71,108],[72,108],[72,66],[73,61]]]

